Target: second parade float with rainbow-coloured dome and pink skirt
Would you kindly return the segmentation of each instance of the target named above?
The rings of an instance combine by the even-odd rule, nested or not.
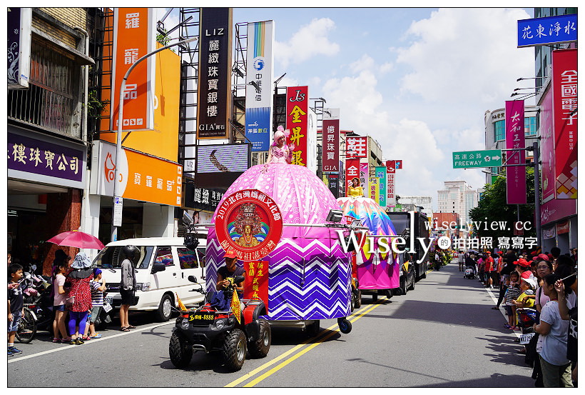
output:
[[[360,307],[361,294],[372,294],[374,300],[378,294],[391,297],[392,289],[400,287],[400,266],[408,270],[408,262],[392,248],[385,252],[385,247],[380,248],[380,236],[388,246],[398,236],[390,217],[374,200],[365,197],[340,197],[337,204],[347,224],[359,220],[368,229],[365,234],[356,232],[361,247],[352,252],[352,275],[358,290],[355,307]]]

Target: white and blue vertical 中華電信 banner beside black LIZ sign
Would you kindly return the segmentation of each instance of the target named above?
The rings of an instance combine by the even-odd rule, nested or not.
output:
[[[245,135],[252,151],[268,151],[273,121],[274,21],[248,24]]]

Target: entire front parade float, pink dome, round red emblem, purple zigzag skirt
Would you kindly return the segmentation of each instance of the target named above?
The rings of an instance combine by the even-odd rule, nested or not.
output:
[[[250,167],[213,214],[207,290],[215,291],[223,256],[231,251],[245,269],[244,299],[262,299],[263,318],[271,326],[301,326],[317,334],[319,320],[337,319],[348,333],[352,266],[336,231],[347,231],[340,220],[335,197],[305,166]]]

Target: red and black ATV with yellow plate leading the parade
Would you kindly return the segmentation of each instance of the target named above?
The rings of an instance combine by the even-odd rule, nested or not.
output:
[[[196,283],[193,276],[188,280]],[[236,277],[230,286],[223,290],[225,299],[231,300],[235,285],[244,281],[243,276]],[[193,289],[205,294],[203,287]],[[175,322],[173,335],[168,344],[168,354],[174,366],[183,369],[190,364],[193,351],[219,351],[223,355],[225,367],[230,371],[239,371],[244,364],[247,351],[253,358],[263,358],[270,350],[270,324],[259,318],[267,313],[261,300],[242,299],[244,308],[240,322],[228,308],[218,311],[212,306],[210,295],[205,297],[205,304],[198,309],[180,311]]]

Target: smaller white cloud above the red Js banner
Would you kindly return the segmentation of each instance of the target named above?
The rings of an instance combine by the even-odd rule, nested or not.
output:
[[[331,42],[328,34],[335,30],[335,22],[329,18],[313,19],[287,42],[275,41],[275,60],[286,69],[290,63],[302,63],[313,56],[333,56],[340,51],[339,44]]]

